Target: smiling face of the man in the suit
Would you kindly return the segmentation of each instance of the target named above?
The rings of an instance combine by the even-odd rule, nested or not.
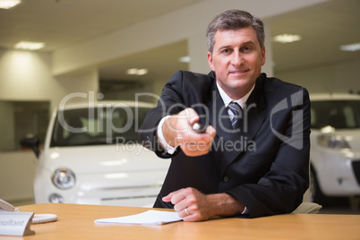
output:
[[[265,64],[265,47],[260,47],[253,27],[218,30],[214,50],[208,53],[219,85],[232,99],[241,99],[253,88]]]

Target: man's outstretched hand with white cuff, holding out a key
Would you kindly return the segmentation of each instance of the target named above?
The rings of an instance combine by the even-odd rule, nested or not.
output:
[[[170,116],[162,126],[164,138],[170,146],[179,146],[184,154],[195,157],[209,152],[216,130],[212,126],[205,133],[193,131],[193,124],[199,122],[199,115],[193,108],[186,108],[177,115]]]

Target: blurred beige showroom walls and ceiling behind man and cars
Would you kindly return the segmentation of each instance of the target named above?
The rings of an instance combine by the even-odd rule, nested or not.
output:
[[[33,202],[37,160],[19,141],[44,142],[65,96],[134,100],[159,95],[177,70],[209,73],[205,30],[231,8],[265,22],[263,72],[311,94],[360,92],[359,0],[22,0],[0,9],[0,198]],[[321,211],[354,206],[333,198]]]

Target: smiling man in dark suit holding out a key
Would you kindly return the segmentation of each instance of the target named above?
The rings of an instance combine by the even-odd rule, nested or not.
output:
[[[144,146],[171,158],[154,207],[201,221],[288,213],[302,202],[308,92],[261,73],[264,38],[252,14],[220,13],[207,30],[211,72],[179,71],[165,85],[139,134]]]

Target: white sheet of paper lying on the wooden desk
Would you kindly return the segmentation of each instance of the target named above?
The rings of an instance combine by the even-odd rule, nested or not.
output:
[[[112,219],[97,219],[95,223],[162,225],[170,222],[181,221],[177,212],[165,210],[147,210],[145,212]]]

